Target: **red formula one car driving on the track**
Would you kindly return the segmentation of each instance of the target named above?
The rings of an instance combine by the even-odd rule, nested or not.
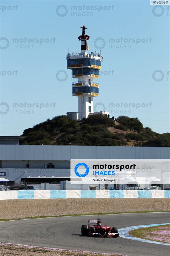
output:
[[[81,234],[90,237],[113,237],[119,236],[118,230],[115,227],[102,225],[101,220],[88,220],[88,225],[82,225]]]

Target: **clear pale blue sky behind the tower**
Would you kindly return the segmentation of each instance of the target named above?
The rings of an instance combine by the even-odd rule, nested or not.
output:
[[[111,116],[138,117],[153,131],[170,132],[168,6],[154,8],[150,0],[24,0],[0,5],[0,135],[19,136],[48,118],[78,110],[66,40],[70,53],[80,51],[77,37],[83,19],[90,52],[105,42],[96,111],[103,110],[101,102]],[[43,39],[47,42],[40,44]],[[59,72],[56,78],[60,70],[67,73]]]

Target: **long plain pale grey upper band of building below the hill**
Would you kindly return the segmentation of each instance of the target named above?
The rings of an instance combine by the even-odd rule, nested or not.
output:
[[[169,158],[170,147],[0,145],[0,160]]]

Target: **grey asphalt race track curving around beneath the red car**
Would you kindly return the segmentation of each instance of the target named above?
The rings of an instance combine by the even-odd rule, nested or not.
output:
[[[170,213],[101,215],[103,224],[128,226],[170,222]],[[0,242],[125,255],[169,255],[169,246],[122,237],[93,238],[81,235],[81,225],[97,216],[56,217],[0,222]]]

